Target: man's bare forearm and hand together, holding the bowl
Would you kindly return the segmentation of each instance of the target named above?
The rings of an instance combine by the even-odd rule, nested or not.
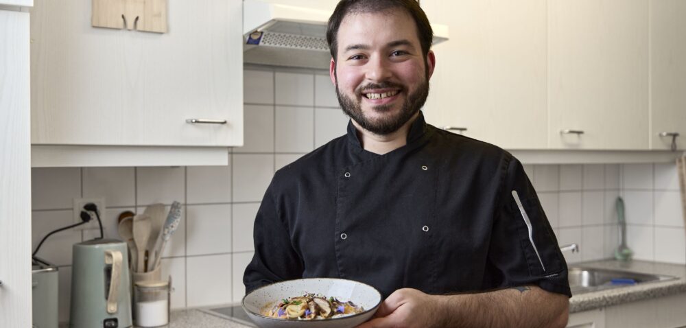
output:
[[[567,296],[536,286],[455,295],[428,295],[403,288],[390,294],[374,318],[357,328],[563,328],[568,315]]]

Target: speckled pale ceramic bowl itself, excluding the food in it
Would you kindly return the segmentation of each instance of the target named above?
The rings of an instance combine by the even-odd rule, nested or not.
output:
[[[270,318],[261,314],[261,309],[283,298],[301,296],[306,293],[322,294],[353,301],[365,311],[352,316],[325,320],[287,320]],[[243,298],[243,309],[259,327],[290,328],[352,328],[369,320],[381,304],[381,293],[370,285],[358,281],[335,278],[309,278],[281,281],[253,290]]]

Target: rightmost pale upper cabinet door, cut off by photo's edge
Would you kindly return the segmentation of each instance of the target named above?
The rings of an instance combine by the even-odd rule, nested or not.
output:
[[[650,1],[650,110],[652,149],[669,150],[670,135],[686,149],[686,1]]]

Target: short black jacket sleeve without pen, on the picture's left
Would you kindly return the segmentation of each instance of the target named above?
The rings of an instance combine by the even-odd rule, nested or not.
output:
[[[273,191],[274,180],[265,192],[255,218],[255,255],[243,276],[246,293],[263,285],[303,276],[303,261],[292,246]]]

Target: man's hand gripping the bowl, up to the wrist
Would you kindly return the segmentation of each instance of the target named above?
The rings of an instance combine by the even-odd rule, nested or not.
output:
[[[372,320],[357,328],[440,327],[440,297],[411,288],[396,290],[381,303]]]

